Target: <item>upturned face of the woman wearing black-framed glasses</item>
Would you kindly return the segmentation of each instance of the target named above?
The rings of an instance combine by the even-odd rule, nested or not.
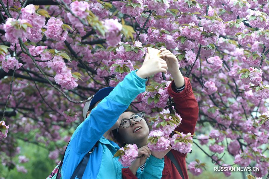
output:
[[[120,122],[132,118],[134,114],[135,113],[130,111],[124,112],[119,117]],[[131,125],[128,128],[123,128],[122,126],[119,126],[117,135],[119,135],[124,142],[127,142],[129,144],[138,144],[141,141],[145,141],[145,138],[147,139],[149,135],[149,127],[145,119],[142,119],[138,122],[131,119],[130,122]]]

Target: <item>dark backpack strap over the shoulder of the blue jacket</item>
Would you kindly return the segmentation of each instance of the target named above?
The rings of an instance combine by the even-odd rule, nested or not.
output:
[[[94,151],[94,148],[98,146],[98,141],[95,143],[95,145],[92,147],[92,149],[83,157],[81,162],[78,164],[77,168],[73,172],[73,175],[71,176],[71,179],[75,179],[76,177],[81,179],[84,171],[86,169],[86,166],[88,164],[90,154]]]

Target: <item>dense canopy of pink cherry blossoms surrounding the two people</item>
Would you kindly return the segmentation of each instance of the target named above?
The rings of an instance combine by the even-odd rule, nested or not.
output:
[[[0,3],[0,165],[27,172],[14,163],[20,155],[18,140],[45,146],[48,157],[58,162],[83,121],[85,100],[139,68],[150,46],[173,52],[191,80],[199,118],[195,135],[186,139],[209,149],[203,151],[217,166],[251,165],[260,169],[252,172],[256,177],[267,175],[268,0]],[[167,104],[171,110],[167,87],[172,78],[169,73],[164,77],[150,77],[146,92],[131,107],[150,117]],[[174,126],[162,128],[150,136],[167,146],[166,133]],[[182,153],[191,150],[186,135],[171,139],[180,141],[173,147]],[[224,161],[224,154],[234,162]],[[20,163],[27,161],[19,156]],[[200,175],[202,162],[191,162],[189,171]]]

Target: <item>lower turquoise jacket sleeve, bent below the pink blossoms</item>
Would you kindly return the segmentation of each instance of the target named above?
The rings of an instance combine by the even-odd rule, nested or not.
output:
[[[146,164],[143,172],[137,170],[136,176],[138,179],[160,179],[162,178],[162,172],[164,167],[164,158],[159,159],[151,155],[146,160]]]

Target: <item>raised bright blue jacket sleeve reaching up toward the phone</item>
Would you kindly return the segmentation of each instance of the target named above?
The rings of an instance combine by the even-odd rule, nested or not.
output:
[[[137,71],[137,70],[136,70]],[[71,148],[78,155],[85,155],[117,121],[138,94],[146,90],[146,79],[131,71],[91,114],[77,127],[71,137]]]

